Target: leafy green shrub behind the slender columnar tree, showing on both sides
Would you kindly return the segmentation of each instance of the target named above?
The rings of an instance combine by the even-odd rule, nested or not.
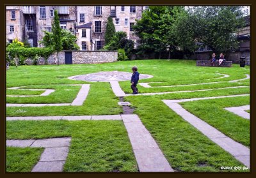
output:
[[[54,40],[53,33],[44,31],[44,38],[40,43],[42,43],[45,47],[53,48]],[[76,36],[72,34],[70,31],[65,29],[61,30],[61,45],[62,50],[79,50],[79,46],[76,43]]]

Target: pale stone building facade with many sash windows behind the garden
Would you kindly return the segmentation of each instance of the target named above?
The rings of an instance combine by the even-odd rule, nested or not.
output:
[[[44,31],[51,32],[54,10],[58,10],[60,26],[77,36],[80,50],[100,50],[108,17],[116,31],[125,31],[138,45],[132,26],[148,6],[6,6],[6,42],[15,38],[27,40],[32,47],[43,47]],[[15,14],[15,19],[13,14]]]

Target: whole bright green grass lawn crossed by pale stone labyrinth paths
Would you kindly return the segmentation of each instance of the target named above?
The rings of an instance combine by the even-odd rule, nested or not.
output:
[[[7,97],[8,103],[71,103],[81,86],[67,84],[90,84],[90,91],[82,106],[36,107],[36,109],[34,107],[7,107],[6,115],[120,114],[122,107],[118,105],[119,98],[113,94],[108,82],[83,82],[69,80],[67,77],[99,71],[131,71],[132,66],[138,66],[142,74],[154,76],[140,80],[140,82],[163,82],[150,84],[155,86],[154,88],[138,85],[140,93],[194,91],[124,98],[125,101],[131,102],[132,107],[135,108],[134,114],[139,115],[172,168],[178,172],[221,172],[223,171],[220,170],[221,166],[243,166],[228,152],[184,121],[161,100],[249,94],[250,80],[228,82],[245,78],[246,74],[250,74],[248,66],[240,68],[239,65],[233,64],[232,68],[196,67],[195,61],[189,60],[138,60],[105,64],[19,66],[18,68],[11,66],[7,71],[7,87],[23,86],[27,89],[55,89],[56,91],[49,96]],[[230,75],[230,77],[219,78],[223,76],[220,73]],[[156,87],[220,81],[221,83],[205,85]],[[125,93],[131,93],[129,81],[119,83]],[[225,89],[225,87],[237,86],[244,87]],[[197,91],[202,89],[213,90]],[[7,91],[9,94],[17,92]],[[30,93],[33,92],[21,92],[26,95]],[[249,103],[250,98],[246,96],[191,101],[182,103],[182,106],[228,137],[249,147],[250,121],[223,109],[223,107],[236,107]],[[134,172],[137,170],[136,160],[122,121],[8,121],[6,126],[8,139],[72,137],[64,167],[67,172]],[[236,172],[237,170],[226,171]]]

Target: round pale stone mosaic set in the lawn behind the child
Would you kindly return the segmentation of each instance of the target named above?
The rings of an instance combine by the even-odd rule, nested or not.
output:
[[[124,71],[101,71],[68,77],[71,80],[83,80],[87,82],[112,82],[131,80],[132,73]],[[152,75],[140,74],[140,79],[152,78]]]

